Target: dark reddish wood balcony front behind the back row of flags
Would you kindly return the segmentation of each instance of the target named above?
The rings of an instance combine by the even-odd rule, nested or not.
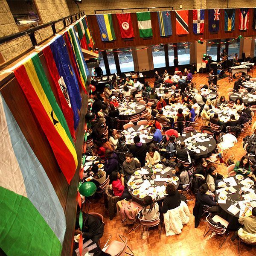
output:
[[[235,30],[232,32],[224,31],[224,9],[220,10],[220,30],[219,32],[210,33],[208,28],[208,10],[205,10],[205,24],[204,24],[204,34],[195,35],[193,33],[192,28],[192,10],[189,10],[189,34],[187,35],[176,35],[176,26],[175,26],[175,12],[171,12],[172,19],[172,36],[161,38],[160,30],[157,19],[157,12],[151,12],[151,24],[153,30],[152,38],[140,38],[138,23],[137,23],[137,15],[136,13],[131,13],[132,25],[134,28],[135,37],[132,40],[125,41],[121,38],[121,34],[119,32],[119,25],[116,18],[116,15],[113,14],[113,26],[116,34],[116,40],[112,42],[102,42],[99,32],[99,26],[96,20],[96,15],[87,15],[87,19],[90,25],[90,29],[92,31],[92,36],[95,41],[95,46],[99,49],[114,49],[114,48],[124,48],[124,47],[134,47],[134,46],[143,46],[143,45],[154,45],[154,44],[167,44],[167,43],[176,43],[176,42],[186,42],[186,41],[197,41],[199,38],[203,37],[204,40],[212,40],[212,39],[226,39],[226,38],[236,38],[238,35],[242,35],[244,37],[247,36],[255,36],[256,30],[253,30],[253,8],[250,8],[249,14],[249,29],[246,31],[239,31],[239,9],[236,9],[236,19],[235,19]]]

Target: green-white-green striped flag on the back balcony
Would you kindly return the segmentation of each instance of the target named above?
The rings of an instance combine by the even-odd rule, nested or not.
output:
[[[137,12],[138,27],[141,38],[153,36],[150,12]]]

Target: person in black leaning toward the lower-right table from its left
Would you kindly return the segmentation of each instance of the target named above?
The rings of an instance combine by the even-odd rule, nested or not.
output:
[[[211,206],[209,212],[221,212],[221,208],[216,202],[215,195],[209,191],[209,186],[207,184],[203,184],[198,189],[196,198],[201,204]]]

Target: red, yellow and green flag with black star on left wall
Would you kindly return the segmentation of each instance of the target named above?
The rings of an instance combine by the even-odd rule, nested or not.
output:
[[[52,147],[61,171],[70,183],[78,164],[76,150],[38,54],[32,54],[14,73]]]

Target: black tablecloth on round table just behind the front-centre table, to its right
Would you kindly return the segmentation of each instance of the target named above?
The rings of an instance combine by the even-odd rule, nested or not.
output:
[[[196,134],[196,133],[195,133],[195,134]],[[191,133],[189,132],[189,133],[186,133],[186,136],[185,136],[185,137],[183,137],[183,136],[177,137],[176,143],[179,142],[179,141],[182,142],[182,141],[186,140],[187,138],[189,138],[189,137],[191,137],[191,136],[192,136],[192,135],[191,135]],[[209,156],[209,155],[212,154],[212,151],[215,149],[215,147],[216,147],[216,145],[217,145],[217,144],[216,144],[216,141],[215,141],[215,139],[214,139],[212,136],[209,136],[209,135],[207,135],[206,138],[209,138],[210,141],[205,141],[205,142],[202,142],[202,143],[197,142],[197,143],[195,144],[195,146],[197,147],[198,145],[203,145],[203,146],[205,146],[205,147],[207,148],[207,150],[202,151],[202,150],[200,149],[200,154],[196,153],[196,154],[192,155],[191,157],[193,157],[193,158],[199,158],[199,157]],[[211,146],[209,146],[209,144],[211,144]],[[177,145],[177,149],[178,149],[178,148],[180,148],[179,145]]]

